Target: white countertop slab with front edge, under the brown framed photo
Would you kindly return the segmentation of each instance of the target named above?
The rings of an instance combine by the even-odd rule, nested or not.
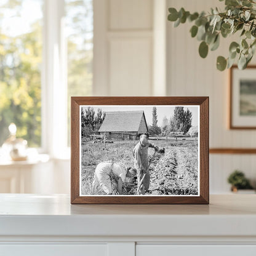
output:
[[[256,194],[209,205],[71,205],[66,195],[0,194],[1,235],[256,236]]]

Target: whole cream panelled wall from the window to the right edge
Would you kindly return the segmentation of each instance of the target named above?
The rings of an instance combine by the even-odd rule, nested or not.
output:
[[[215,63],[228,55],[232,38],[202,59],[191,23],[173,28],[167,22],[167,7],[200,12],[215,6],[223,2],[95,0],[94,95],[209,96],[210,148],[255,148],[255,130],[228,129],[228,71],[217,71]],[[210,154],[210,193],[228,192],[234,169],[255,182],[254,166],[255,155]]]

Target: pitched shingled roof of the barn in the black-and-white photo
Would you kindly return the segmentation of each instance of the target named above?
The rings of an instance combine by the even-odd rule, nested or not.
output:
[[[106,112],[105,119],[99,132],[137,132],[140,121],[146,118],[143,110]],[[147,126],[146,126],[147,127]]]

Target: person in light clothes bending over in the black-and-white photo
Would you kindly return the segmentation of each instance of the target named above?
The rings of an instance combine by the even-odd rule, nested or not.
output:
[[[95,169],[92,191],[98,194],[98,185],[106,194],[122,194],[122,183],[126,177],[134,177],[136,170],[119,162],[100,162]],[[116,191],[116,184],[118,185]]]

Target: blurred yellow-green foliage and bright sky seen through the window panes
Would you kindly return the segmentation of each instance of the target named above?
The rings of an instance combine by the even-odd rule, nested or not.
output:
[[[93,0],[63,3],[69,145],[70,97],[92,94]],[[44,0],[0,1],[0,146],[11,122],[17,125],[17,137],[41,146],[43,8]]]

